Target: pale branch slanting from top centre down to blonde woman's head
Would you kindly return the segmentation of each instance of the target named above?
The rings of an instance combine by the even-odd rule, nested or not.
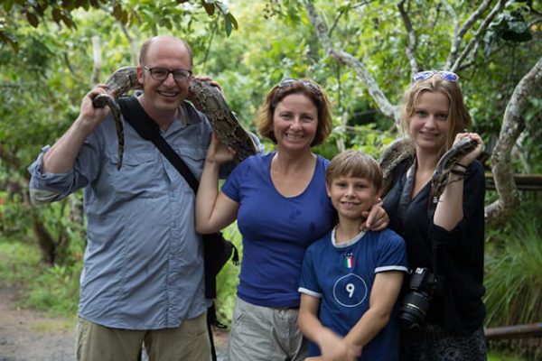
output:
[[[328,32],[324,23],[322,22],[322,18],[314,8],[313,0],[305,0],[304,5],[306,13],[309,16],[311,23],[313,23],[316,35],[322,43],[323,51],[325,51],[325,53],[331,56],[333,59],[340,60],[341,62],[350,66],[350,68],[354,69],[361,81],[367,86],[369,95],[377,103],[380,111],[384,115],[392,117],[398,125],[398,106],[394,106],[388,101],[388,98],[384,95],[382,89],[378,87],[377,81],[370,75],[369,70],[365,67],[362,61],[357,60],[345,51],[340,51],[333,47],[332,40],[328,36]]]

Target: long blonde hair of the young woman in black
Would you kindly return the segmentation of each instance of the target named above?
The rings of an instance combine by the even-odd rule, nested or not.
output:
[[[452,147],[455,134],[458,134],[465,128],[471,125],[471,115],[463,102],[463,94],[457,81],[448,81],[442,79],[438,75],[434,75],[429,79],[422,81],[413,81],[410,83],[406,92],[403,95],[403,106],[401,108],[401,123],[403,131],[408,134],[410,125],[410,117],[414,113],[414,108],[425,91],[441,92],[450,102],[447,121],[450,122],[448,134],[446,134],[446,142],[442,149],[442,153]]]

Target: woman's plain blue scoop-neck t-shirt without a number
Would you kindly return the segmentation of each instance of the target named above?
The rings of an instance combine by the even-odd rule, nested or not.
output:
[[[333,227],[335,210],[325,192],[329,161],[318,156],[307,188],[286,198],[271,180],[274,155],[257,154],[241,162],[222,192],[239,204],[243,259],[238,297],[257,306],[295,307],[304,252]]]

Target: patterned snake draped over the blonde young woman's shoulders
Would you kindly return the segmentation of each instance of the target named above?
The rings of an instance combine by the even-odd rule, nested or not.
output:
[[[431,177],[433,196],[436,199],[443,194],[453,165],[459,162],[465,154],[471,153],[475,147],[476,142],[470,137],[465,137],[458,143],[455,143],[436,163],[435,171]],[[415,159],[416,146],[411,139],[401,138],[388,145],[378,160],[384,177],[383,195],[386,195],[391,189],[393,171],[397,165],[405,161],[408,163],[408,167],[410,167]]]

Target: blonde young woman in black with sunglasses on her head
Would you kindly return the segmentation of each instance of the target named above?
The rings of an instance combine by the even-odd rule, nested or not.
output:
[[[406,241],[409,267],[419,269],[416,274],[428,273],[415,300],[406,302],[414,306],[399,312],[410,328],[401,335],[402,360],[486,359],[481,299],[485,190],[483,166],[476,161],[482,141],[478,134],[462,132],[471,116],[458,81],[453,72],[423,71],[404,96],[403,124],[416,144],[416,162],[396,171],[384,208],[389,227]],[[453,166],[444,193],[434,199],[431,176],[436,164],[464,137],[477,145]],[[412,291],[406,287],[406,294]],[[425,301],[424,317],[418,308]]]

